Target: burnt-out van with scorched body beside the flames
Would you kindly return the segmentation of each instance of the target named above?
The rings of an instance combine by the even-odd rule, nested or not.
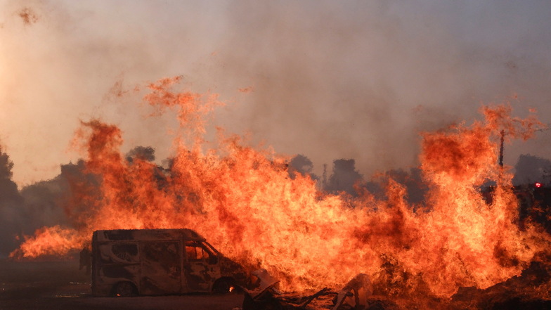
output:
[[[190,229],[94,231],[94,296],[230,292],[247,280],[239,264]]]

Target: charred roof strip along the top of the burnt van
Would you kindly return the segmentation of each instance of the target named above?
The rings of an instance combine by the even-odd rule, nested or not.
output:
[[[92,242],[122,240],[194,240],[205,241],[200,234],[188,228],[173,229],[112,229],[94,231]]]

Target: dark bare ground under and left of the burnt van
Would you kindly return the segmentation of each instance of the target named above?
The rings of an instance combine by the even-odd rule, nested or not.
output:
[[[92,297],[78,261],[0,260],[0,310],[231,310],[243,295]]]

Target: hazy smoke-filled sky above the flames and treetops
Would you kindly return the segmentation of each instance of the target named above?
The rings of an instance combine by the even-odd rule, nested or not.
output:
[[[0,146],[19,186],[75,162],[80,122],[123,131],[123,152],[169,157],[174,117],[145,117],[129,91],[182,76],[218,93],[228,133],[323,164],[356,160],[367,179],[418,164],[420,132],[508,102],[551,123],[546,0],[0,0]],[[243,92],[240,89],[249,89]],[[505,146],[551,157],[551,131]]]

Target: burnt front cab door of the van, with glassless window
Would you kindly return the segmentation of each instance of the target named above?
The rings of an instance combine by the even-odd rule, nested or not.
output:
[[[184,274],[189,292],[210,292],[212,284],[220,278],[218,257],[200,242],[186,241]]]

